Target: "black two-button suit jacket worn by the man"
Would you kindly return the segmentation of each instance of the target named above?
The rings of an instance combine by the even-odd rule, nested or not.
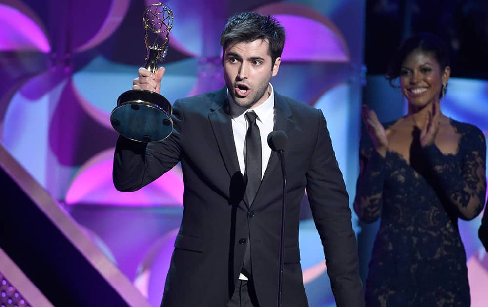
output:
[[[298,247],[305,188],[324,246],[337,306],[364,305],[348,195],[320,110],[275,92],[275,130],[289,141],[283,306],[307,306]],[[181,161],[183,219],[166,279],[164,307],[225,307],[243,265],[245,241],[261,307],[276,306],[282,175],[272,153],[252,206],[244,196],[225,88],[177,100],[174,131],[148,145],[119,138],[113,179],[134,191]],[[153,272],[153,274],[156,272]]]

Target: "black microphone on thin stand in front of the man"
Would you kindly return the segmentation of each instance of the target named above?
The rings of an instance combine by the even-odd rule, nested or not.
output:
[[[278,272],[278,307],[281,307],[281,292],[283,287],[283,249],[285,245],[285,202],[286,202],[286,172],[285,172],[285,157],[284,152],[286,144],[288,143],[288,135],[285,131],[272,131],[268,134],[268,145],[272,151],[278,154],[281,163],[281,174],[283,178],[283,192],[281,203],[281,231],[280,231],[280,269]]]

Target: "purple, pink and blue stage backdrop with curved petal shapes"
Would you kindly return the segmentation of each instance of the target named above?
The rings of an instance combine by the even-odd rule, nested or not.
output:
[[[287,41],[280,72],[271,82],[281,94],[323,110],[352,201],[366,82],[364,2],[164,1],[175,20],[162,93],[173,102],[222,87],[219,36],[227,17],[251,10],[276,16]],[[149,303],[159,306],[183,212],[181,169],[174,167],[140,191],[116,191],[112,159],[117,133],[109,121],[117,97],[131,89],[144,64],[142,13],[151,3],[0,1],[0,132],[5,148]],[[367,81],[376,96],[365,99],[376,99],[371,105],[380,117],[402,113],[399,92],[381,77]],[[487,91],[487,82],[452,80],[444,111],[477,124],[486,134]],[[332,307],[323,250],[306,198],[302,207],[300,250],[309,303]],[[477,240],[479,223],[480,218],[460,224],[473,307],[488,301],[482,288],[488,283],[488,257]],[[354,213],[353,225],[360,234]],[[374,230],[369,230],[360,243],[364,275],[373,237]]]

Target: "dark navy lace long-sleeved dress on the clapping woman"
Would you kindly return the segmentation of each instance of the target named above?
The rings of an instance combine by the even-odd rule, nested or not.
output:
[[[414,141],[408,162],[393,151],[383,158],[362,140],[354,209],[366,223],[381,217],[366,306],[470,305],[458,218],[483,210],[486,145],[477,127],[450,124],[460,135],[455,154]]]

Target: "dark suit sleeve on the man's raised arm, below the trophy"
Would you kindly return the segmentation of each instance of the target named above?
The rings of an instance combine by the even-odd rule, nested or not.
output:
[[[180,160],[183,103],[173,106],[173,132],[160,142],[140,143],[119,136],[114,154],[113,181],[119,191],[135,191],[158,179]]]

